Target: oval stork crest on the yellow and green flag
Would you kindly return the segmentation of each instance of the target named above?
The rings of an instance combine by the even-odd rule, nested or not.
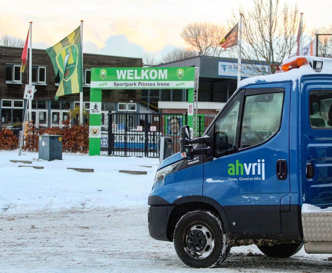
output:
[[[63,80],[68,82],[77,70],[78,48],[76,44],[63,47],[55,57],[56,64],[63,75]]]

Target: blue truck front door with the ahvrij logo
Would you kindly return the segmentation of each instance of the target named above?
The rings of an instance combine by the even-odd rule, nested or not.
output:
[[[241,90],[208,131],[213,157],[205,159],[203,195],[222,205],[234,234],[282,233],[280,204],[290,202],[290,87]]]

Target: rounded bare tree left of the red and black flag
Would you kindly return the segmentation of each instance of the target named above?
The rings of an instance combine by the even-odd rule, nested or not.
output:
[[[181,37],[201,55],[219,56],[223,51],[218,43],[225,36],[225,28],[211,23],[191,23],[184,27]]]

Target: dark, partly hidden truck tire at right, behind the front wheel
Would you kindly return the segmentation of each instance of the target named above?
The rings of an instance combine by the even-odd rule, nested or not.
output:
[[[260,251],[266,256],[287,258],[296,254],[303,246],[303,243],[282,243],[276,245],[257,245]]]

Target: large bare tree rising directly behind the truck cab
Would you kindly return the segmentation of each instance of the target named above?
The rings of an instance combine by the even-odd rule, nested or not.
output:
[[[236,46],[235,51],[242,59],[249,60],[256,72],[274,74],[277,65],[289,58],[296,46],[298,6],[289,6],[286,2],[280,7],[280,0],[272,0],[271,6],[270,0],[253,1],[252,9],[239,9],[242,14],[242,50],[239,52]],[[233,12],[230,26],[234,26],[238,18]],[[263,61],[268,66],[264,66]]]

